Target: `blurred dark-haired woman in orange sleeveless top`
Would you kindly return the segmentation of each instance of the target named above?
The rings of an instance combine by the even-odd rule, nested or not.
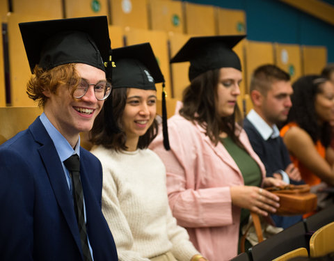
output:
[[[320,75],[307,75],[292,87],[292,108],[280,135],[306,184],[333,186],[330,122],[334,116],[334,84]]]

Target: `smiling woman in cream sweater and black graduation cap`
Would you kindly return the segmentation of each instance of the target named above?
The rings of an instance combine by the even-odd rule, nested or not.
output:
[[[166,169],[148,149],[157,134],[155,83],[164,81],[150,44],[115,49],[113,58],[113,90],[95,120],[91,152],[102,163],[102,211],[119,259],[206,260],[177,226],[168,205]]]

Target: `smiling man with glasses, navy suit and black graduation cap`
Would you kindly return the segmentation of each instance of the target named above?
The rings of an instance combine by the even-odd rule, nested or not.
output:
[[[111,92],[107,19],[19,28],[34,74],[27,93],[44,112],[0,147],[0,260],[118,260],[101,210],[102,167],[79,137]]]

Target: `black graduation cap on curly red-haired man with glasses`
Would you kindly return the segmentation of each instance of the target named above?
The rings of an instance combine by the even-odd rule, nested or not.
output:
[[[86,63],[106,73],[111,68],[106,16],[24,22],[19,29],[31,72],[36,64],[45,70],[67,63]]]

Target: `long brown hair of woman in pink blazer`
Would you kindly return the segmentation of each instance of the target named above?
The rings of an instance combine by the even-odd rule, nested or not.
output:
[[[241,117],[239,107],[236,106],[234,113],[228,117],[219,116],[216,110],[219,70],[209,70],[191,81],[183,92],[180,115],[204,128],[205,134],[215,145],[219,141],[219,134],[225,132],[243,148],[239,136],[235,134],[235,117]]]

